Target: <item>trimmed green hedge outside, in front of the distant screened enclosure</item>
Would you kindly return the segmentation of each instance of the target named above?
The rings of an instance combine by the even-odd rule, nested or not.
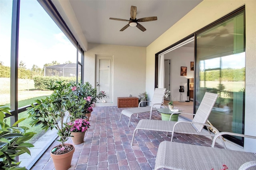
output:
[[[34,77],[35,88],[38,90],[49,90],[47,85],[55,81],[76,81],[76,77],[57,77],[57,76],[36,76]]]

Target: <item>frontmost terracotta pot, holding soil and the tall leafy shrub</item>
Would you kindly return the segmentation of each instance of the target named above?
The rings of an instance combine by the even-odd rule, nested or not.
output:
[[[70,143],[67,143],[65,145],[68,145],[68,144],[73,145]],[[50,152],[55,170],[67,170],[68,168],[70,168],[74,151],[75,151],[75,146],[70,152],[65,154],[57,155],[57,154],[52,154],[52,152]]]

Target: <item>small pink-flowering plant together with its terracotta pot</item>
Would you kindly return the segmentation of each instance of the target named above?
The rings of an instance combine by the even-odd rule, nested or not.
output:
[[[86,119],[76,119],[68,123],[70,125],[71,137],[74,144],[84,142],[84,134],[90,128],[90,123]]]

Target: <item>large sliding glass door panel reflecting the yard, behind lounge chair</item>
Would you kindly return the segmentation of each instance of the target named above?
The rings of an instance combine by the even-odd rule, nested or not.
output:
[[[196,107],[218,93],[209,121],[220,131],[244,133],[244,10],[196,34]],[[242,138],[232,138],[243,145]]]

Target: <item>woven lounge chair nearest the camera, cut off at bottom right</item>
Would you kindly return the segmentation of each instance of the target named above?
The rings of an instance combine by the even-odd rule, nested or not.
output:
[[[164,141],[158,147],[155,170],[220,170],[224,169],[223,164],[228,170],[246,170],[250,167],[255,169],[255,153],[214,148],[216,139],[223,134],[256,139],[256,136],[220,132],[214,136],[212,147]]]

